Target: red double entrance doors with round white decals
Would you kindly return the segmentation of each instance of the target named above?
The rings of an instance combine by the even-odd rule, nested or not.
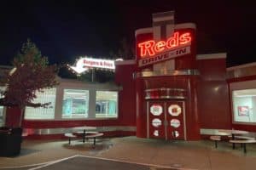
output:
[[[148,138],[186,140],[184,101],[148,101],[147,122]]]

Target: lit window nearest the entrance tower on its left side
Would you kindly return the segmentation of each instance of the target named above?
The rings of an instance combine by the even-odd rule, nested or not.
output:
[[[96,118],[117,117],[117,92],[96,91]]]

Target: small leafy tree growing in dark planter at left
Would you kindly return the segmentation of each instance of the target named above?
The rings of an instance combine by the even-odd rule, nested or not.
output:
[[[0,105],[18,106],[20,108],[20,123],[24,118],[26,106],[40,107],[46,104],[35,104],[36,92],[44,92],[45,88],[53,88],[58,84],[56,81],[57,67],[49,65],[48,58],[42,56],[35,43],[29,39],[23,44],[20,53],[13,61],[14,69],[6,72],[2,84],[6,89],[2,92],[3,98]]]

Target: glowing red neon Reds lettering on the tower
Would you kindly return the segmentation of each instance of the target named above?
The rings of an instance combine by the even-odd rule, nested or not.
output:
[[[188,44],[191,42],[192,37],[189,32],[180,34],[175,32],[172,37],[169,37],[167,41],[155,42],[154,40],[149,40],[147,42],[141,42],[138,44],[140,48],[141,57],[153,56],[154,54],[165,51],[166,49],[177,48],[178,46]]]

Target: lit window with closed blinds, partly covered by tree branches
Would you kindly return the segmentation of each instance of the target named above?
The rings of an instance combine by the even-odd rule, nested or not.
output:
[[[44,120],[44,119],[54,119],[55,118],[55,98],[56,98],[56,88],[44,89],[44,92],[36,92],[37,98],[32,101],[32,103],[49,103],[47,108],[44,107],[26,107],[25,109],[25,119],[29,120]]]

